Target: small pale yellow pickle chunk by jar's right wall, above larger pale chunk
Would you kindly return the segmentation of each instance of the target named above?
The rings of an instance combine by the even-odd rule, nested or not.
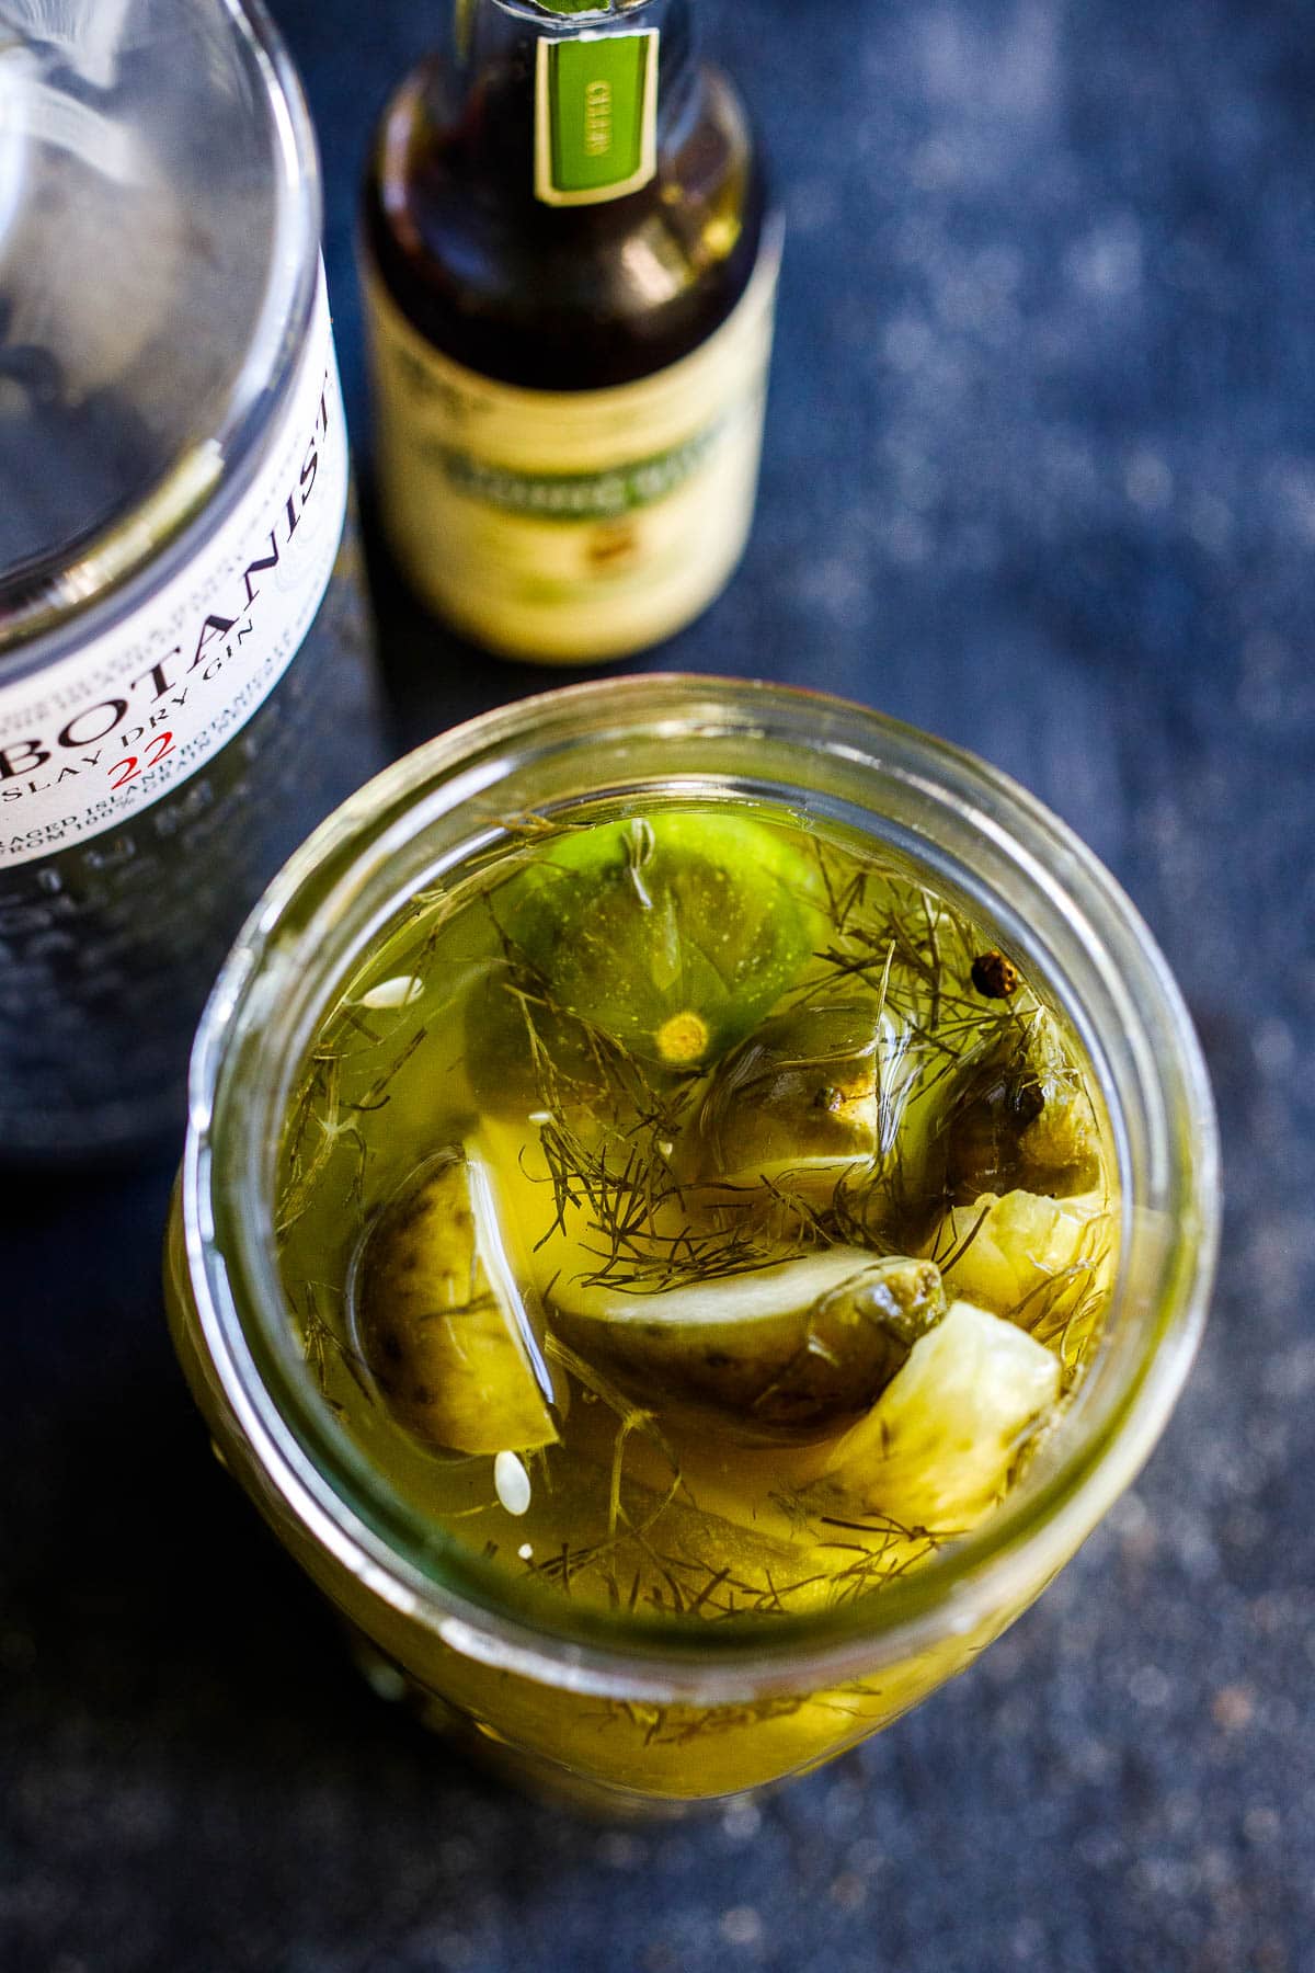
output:
[[[933,1251],[952,1257],[946,1282],[954,1294],[1033,1328],[1043,1312],[1073,1306],[1108,1284],[1114,1263],[1108,1200],[1102,1192],[1071,1200],[986,1192],[946,1213]]]

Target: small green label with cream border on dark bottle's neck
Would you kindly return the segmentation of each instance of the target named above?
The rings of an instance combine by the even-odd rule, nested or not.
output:
[[[542,36],[534,191],[546,205],[601,205],[657,174],[658,32]]]

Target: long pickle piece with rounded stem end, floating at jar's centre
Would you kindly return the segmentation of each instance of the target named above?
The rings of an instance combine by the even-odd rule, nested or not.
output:
[[[660,1294],[560,1279],[548,1300],[562,1338],[641,1403],[716,1407],[749,1440],[865,1411],[946,1306],[931,1263],[854,1247]]]

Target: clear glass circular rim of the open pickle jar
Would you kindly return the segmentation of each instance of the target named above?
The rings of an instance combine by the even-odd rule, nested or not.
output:
[[[751,760],[775,760],[781,781],[791,764],[800,813],[858,797],[869,835],[879,825],[879,840],[917,848],[990,900],[1092,1058],[1124,1207],[1112,1342],[1025,1486],[907,1578],[846,1610],[714,1638],[633,1618],[621,1634],[613,1618],[568,1610],[548,1628],[440,1553],[432,1529],[388,1498],[347,1434],[300,1395],[274,1263],[284,1093],[349,955],[390,919],[414,868],[434,868],[444,827],[467,846],[487,840],[499,815],[524,813],[507,807],[522,779],[560,779],[588,758],[589,785],[615,787],[627,762],[639,773],[645,748],[666,758],[680,787],[700,762],[720,760],[735,785]],[[798,1689],[800,1677],[816,1687],[1029,1600],[1155,1444],[1191,1365],[1214,1267],[1218,1152],[1205,1065],[1132,904],[1063,823],[996,769],[791,687],[700,677],[580,685],[483,714],[396,764],[304,844],[248,919],[197,1036],[189,1113],[191,1288],[262,1484],[315,1547],[453,1649],[574,1691],[712,1703]]]

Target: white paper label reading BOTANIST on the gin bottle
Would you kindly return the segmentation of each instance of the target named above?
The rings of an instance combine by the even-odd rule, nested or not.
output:
[[[296,657],[347,515],[347,424],[319,294],[254,483],[128,618],[0,683],[0,868],[87,842],[189,779]]]

